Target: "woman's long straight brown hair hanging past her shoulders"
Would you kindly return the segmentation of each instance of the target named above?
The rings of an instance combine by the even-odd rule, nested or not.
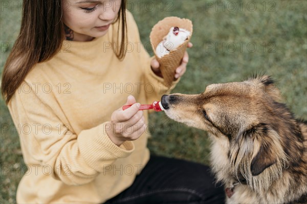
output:
[[[125,57],[126,0],[121,1],[117,20],[121,25],[121,46],[116,52],[118,59]],[[119,35],[118,35],[119,38]],[[32,67],[51,59],[61,48],[64,40],[61,0],[24,0],[20,33],[4,65],[1,92],[6,103],[25,79]]]

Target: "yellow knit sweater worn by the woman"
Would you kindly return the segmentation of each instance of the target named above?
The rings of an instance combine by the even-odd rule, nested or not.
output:
[[[117,59],[117,26],[92,41],[64,40],[51,60],[33,67],[8,104],[28,167],[18,203],[101,203],[128,188],[149,160],[150,128],[120,147],[105,132],[128,95],[152,103],[167,91],[150,69],[129,12],[127,53]]]

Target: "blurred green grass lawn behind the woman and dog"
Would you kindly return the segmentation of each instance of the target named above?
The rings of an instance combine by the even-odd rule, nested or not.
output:
[[[144,0],[138,3],[131,1],[128,8],[134,14],[145,44],[149,42],[151,27],[163,17],[179,16],[192,20],[194,27],[191,42],[194,46],[188,50],[190,59],[187,72],[173,93],[201,93],[207,83],[241,81],[256,72],[266,72],[277,80],[276,85],[281,90],[284,102],[298,118],[306,120],[307,2],[244,2]],[[237,7],[236,11],[232,11],[233,3]],[[218,5],[222,6],[215,8]],[[257,9],[251,11],[254,5]],[[13,11],[11,7],[1,9],[0,73],[11,50],[6,46],[16,39],[21,17],[17,8],[13,8]],[[216,50],[215,43],[224,50]],[[242,51],[239,43],[245,43]],[[257,47],[254,52],[253,44]],[[152,54],[151,50],[148,51]],[[0,107],[1,124],[11,125],[11,117],[2,99]],[[150,123],[155,124],[148,144],[153,154],[208,164],[210,142],[206,132],[172,122],[163,112],[151,114]],[[14,203],[22,172],[5,171],[5,168],[18,169],[18,165],[23,165],[16,131],[2,129],[0,142],[0,202]]]

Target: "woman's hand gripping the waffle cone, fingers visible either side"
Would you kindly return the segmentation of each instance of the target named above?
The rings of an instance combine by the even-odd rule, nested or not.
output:
[[[193,44],[191,42],[188,43],[188,48],[192,48]],[[189,55],[187,52],[184,53],[184,56],[182,58],[181,64],[177,67],[176,73],[175,73],[175,78],[178,79],[181,77],[187,69],[187,63],[189,61]],[[151,70],[159,77],[162,77],[162,73],[160,70],[160,63],[157,61],[157,59],[152,59],[151,60]]]

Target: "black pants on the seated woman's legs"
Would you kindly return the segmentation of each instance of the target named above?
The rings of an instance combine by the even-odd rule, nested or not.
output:
[[[162,203],[224,203],[221,184],[214,184],[207,166],[150,156],[150,160],[133,185],[105,204],[162,204]]]

